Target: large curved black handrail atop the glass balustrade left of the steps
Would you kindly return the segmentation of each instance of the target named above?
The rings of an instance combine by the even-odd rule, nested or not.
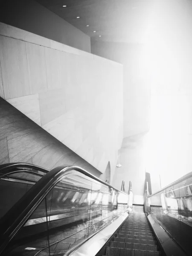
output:
[[[17,203],[7,212],[7,214],[1,218],[0,239],[2,241],[2,247],[0,247],[0,253],[4,250],[9,241],[13,239],[18,230],[23,226],[29,216],[32,215],[32,212],[38,207],[49,191],[55,186],[55,184],[61,181],[64,176],[78,173],[84,174],[87,177],[98,181],[99,183],[105,184],[105,186],[115,189],[110,184],[105,183],[105,181],[100,180],[96,176],[78,166],[58,166],[52,169],[34,186],[32,186],[32,188],[29,189],[29,191],[26,192],[26,194],[20,198],[19,201],[17,201]],[[121,192],[119,189],[115,190]]]

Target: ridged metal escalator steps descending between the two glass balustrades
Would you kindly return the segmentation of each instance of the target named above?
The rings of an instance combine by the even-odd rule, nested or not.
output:
[[[134,206],[131,215],[97,256],[162,256],[160,249],[143,206]]]

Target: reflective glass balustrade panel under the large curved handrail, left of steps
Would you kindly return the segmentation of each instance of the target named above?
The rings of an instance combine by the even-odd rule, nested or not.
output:
[[[6,255],[59,255],[72,250],[126,211],[128,195],[123,194],[124,201],[118,204],[119,193],[72,171],[50,189]]]

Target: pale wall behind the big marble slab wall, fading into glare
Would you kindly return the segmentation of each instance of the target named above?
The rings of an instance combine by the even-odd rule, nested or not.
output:
[[[123,64],[123,137],[147,132],[150,125],[150,82],[145,45],[92,39],[91,52]]]

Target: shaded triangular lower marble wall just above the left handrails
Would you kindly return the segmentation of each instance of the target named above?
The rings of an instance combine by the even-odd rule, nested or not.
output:
[[[0,164],[25,162],[46,169],[76,165],[99,177],[101,172],[35,122],[0,98]]]

